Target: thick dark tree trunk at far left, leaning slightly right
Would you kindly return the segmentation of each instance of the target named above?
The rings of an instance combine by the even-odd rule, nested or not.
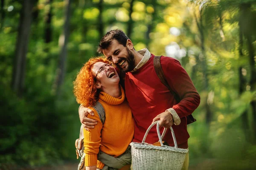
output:
[[[14,67],[12,72],[12,89],[18,94],[18,96],[22,96],[24,88],[26,53],[29,44],[32,7],[33,4],[31,0],[24,0],[20,14]]]

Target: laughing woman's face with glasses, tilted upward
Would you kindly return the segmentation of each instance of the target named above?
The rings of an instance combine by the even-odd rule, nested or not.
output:
[[[111,88],[111,86],[119,84],[120,79],[116,69],[105,62],[96,62],[92,72],[97,88]]]

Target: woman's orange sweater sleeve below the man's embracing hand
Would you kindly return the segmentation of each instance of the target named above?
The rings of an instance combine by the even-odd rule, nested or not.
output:
[[[85,166],[97,165],[97,154],[99,153],[99,145],[101,143],[102,122],[94,108],[90,108],[95,113],[94,116],[88,114],[88,118],[97,120],[97,125],[87,131],[84,129],[84,153]]]

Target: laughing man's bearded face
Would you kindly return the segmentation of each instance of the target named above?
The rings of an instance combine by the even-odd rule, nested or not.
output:
[[[117,68],[122,71],[129,72],[135,68],[134,54],[130,49],[118,41],[112,40],[111,45],[103,50],[103,54]]]

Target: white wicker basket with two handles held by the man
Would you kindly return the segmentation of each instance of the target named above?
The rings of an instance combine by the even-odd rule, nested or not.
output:
[[[145,143],[149,130],[155,124],[157,124],[157,135],[161,146],[153,146],[152,144]],[[177,147],[174,131],[172,127],[170,129],[175,147],[163,145],[162,139],[167,128],[164,129],[161,136],[159,121],[154,122],[148,127],[142,143],[131,142],[133,170],[181,170],[188,150]]]

